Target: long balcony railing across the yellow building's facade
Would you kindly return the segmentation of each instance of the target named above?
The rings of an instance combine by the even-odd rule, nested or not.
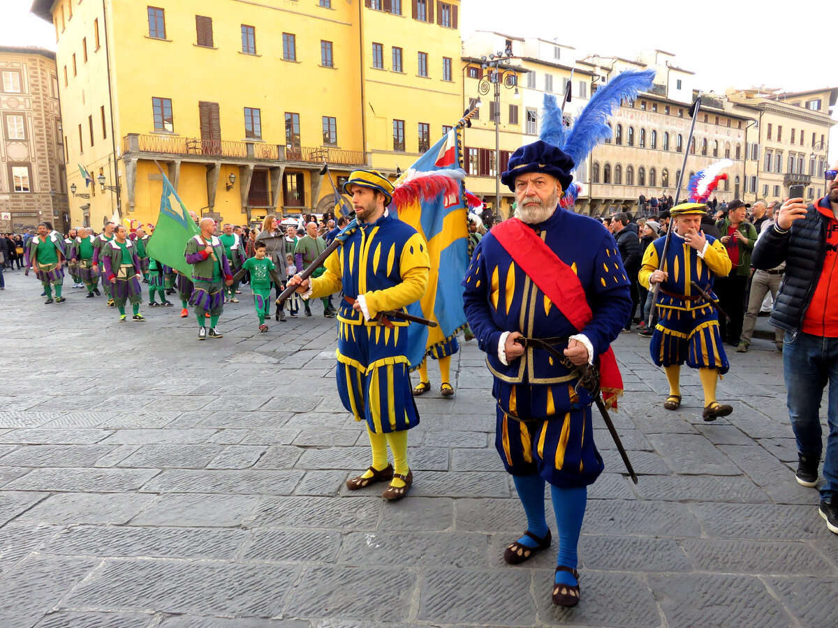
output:
[[[365,164],[364,153],[331,147],[285,147],[261,142],[230,142],[202,140],[198,137],[141,135],[129,133],[122,138],[122,152],[147,152],[183,157],[231,157],[259,161],[288,161],[303,163],[338,163],[347,166]]]

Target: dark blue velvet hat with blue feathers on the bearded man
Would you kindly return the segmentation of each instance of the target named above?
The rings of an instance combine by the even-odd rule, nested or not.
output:
[[[579,193],[577,183],[573,183],[574,168],[585,161],[594,147],[613,135],[608,124],[613,112],[623,100],[632,101],[640,92],[649,90],[654,74],[654,69],[645,69],[627,70],[615,76],[591,96],[569,127],[564,125],[556,96],[545,94],[539,141],[515,151],[500,180],[515,192],[515,177],[525,172],[547,172],[561,182],[561,206],[571,206]]]

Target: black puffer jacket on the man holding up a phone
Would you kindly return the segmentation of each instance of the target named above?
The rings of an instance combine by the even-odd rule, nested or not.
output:
[[[786,263],[785,278],[774,302],[771,317],[774,327],[799,332],[803,317],[812,301],[826,255],[826,226],[829,219],[810,205],[804,219],[795,220],[786,233],[771,227],[758,239],[751,265],[759,270]]]

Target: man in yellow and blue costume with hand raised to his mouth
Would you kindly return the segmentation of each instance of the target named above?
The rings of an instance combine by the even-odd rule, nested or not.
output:
[[[660,283],[658,324],[649,346],[652,360],[665,370],[670,383],[666,409],[678,409],[680,365],[697,368],[704,389],[704,420],[715,420],[732,412],[732,407],[716,401],[718,377],[727,373],[729,363],[722,346],[716,308],[701,296],[695,286],[716,301],[713,279],[727,276],[731,260],[722,242],[701,231],[706,205],[680,203],[670,210],[674,231],[664,253],[665,237],[646,249],[639,281],[649,290]]]

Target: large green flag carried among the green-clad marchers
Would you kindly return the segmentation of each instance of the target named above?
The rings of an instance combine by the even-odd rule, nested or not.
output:
[[[163,177],[160,214],[154,225],[154,232],[148,239],[146,250],[149,257],[189,276],[192,269],[186,263],[184,249],[189,239],[198,235],[200,231],[168,177],[162,171],[160,175]],[[172,197],[177,201],[176,205],[172,204]]]

